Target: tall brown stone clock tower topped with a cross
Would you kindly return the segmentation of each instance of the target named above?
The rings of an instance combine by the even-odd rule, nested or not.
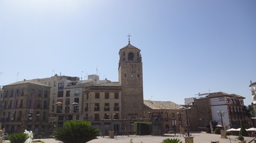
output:
[[[119,51],[118,71],[122,86],[122,118],[138,119],[143,116],[142,62],[140,49],[132,46],[130,41]]]

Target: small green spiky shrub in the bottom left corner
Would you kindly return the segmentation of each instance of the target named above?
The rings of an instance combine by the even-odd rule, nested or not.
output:
[[[7,136],[11,143],[24,143],[28,138],[30,138],[28,133],[11,133]]]

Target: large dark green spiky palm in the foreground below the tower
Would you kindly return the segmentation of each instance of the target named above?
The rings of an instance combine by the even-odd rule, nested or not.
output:
[[[53,132],[56,140],[64,143],[85,143],[92,139],[97,139],[100,131],[85,120],[69,120],[64,123],[63,128],[58,128]]]

